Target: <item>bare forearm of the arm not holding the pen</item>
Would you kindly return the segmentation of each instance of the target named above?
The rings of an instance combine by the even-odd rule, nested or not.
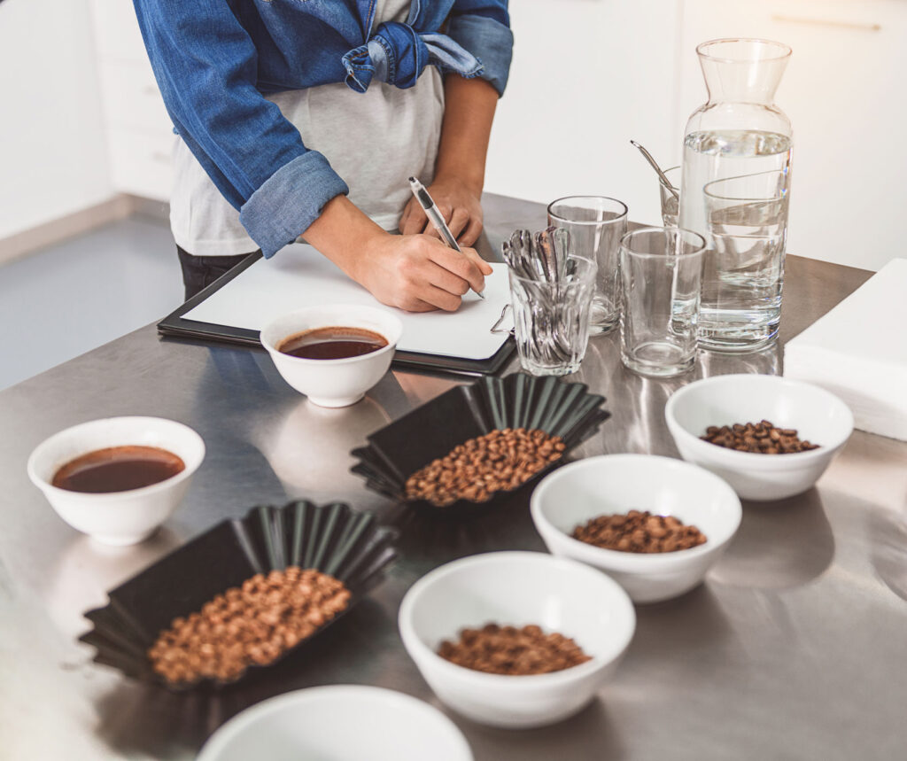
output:
[[[462,180],[478,196],[485,181],[485,157],[498,93],[483,79],[444,78],[444,122],[434,178]]]

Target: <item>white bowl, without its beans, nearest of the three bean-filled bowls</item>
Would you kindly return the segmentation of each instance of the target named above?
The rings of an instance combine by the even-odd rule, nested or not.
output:
[[[489,552],[426,574],[400,606],[400,636],[445,705],[493,727],[541,727],[575,714],[617,667],[636,628],[627,594],[607,576],[543,552]],[[456,666],[437,649],[460,629],[536,624],[575,639],[592,659],[510,677]]]

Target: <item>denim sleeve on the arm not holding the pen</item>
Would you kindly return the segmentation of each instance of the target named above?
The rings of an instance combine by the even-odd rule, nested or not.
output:
[[[446,31],[482,62],[479,76],[502,95],[513,55],[507,0],[454,0]]]

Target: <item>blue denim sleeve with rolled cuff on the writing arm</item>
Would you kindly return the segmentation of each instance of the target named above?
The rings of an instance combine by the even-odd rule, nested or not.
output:
[[[347,193],[255,86],[258,53],[231,0],[134,0],[173,124],[266,257]]]

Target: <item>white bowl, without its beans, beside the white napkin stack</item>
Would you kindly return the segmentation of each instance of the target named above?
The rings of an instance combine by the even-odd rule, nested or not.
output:
[[[831,464],[850,434],[853,414],[816,385],[778,376],[716,376],[684,386],[665,407],[680,455],[720,475],[746,500],[781,500],[805,492]],[[796,454],[736,452],[702,441],[709,425],[769,420],[795,428],[818,449]]]

